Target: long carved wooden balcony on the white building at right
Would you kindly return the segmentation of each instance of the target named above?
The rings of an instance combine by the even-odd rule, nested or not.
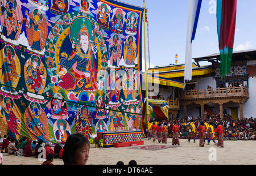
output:
[[[224,99],[224,98],[249,98],[247,87],[216,88],[182,91],[179,93],[179,100],[205,100],[205,99]]]

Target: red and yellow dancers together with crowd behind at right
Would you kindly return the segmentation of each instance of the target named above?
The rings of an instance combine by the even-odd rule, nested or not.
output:
[[[256,119],[233,119],[225,114],[220,119],[212,118],[175,119],[174,121],[153,121],[147,123],[147,138],[153,141],[167,143],[167,138],[172,138],[172,145],[179,145],[179,139],[200,140],[200,146],[210,144],[224,147],[224,140],[256,140]]]

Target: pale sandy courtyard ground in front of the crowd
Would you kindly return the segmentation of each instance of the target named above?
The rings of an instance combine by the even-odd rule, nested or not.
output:
[[[123,161],[127,165],[130,160],[137,161],[138,165],[251,165],[256,163],[255,140],[225,140],[224,148],[214,146],[212,141],[210,145],[205,144],[204,147],[199,147],[199,140],[196,140],[196,143],[193,143],[193,140],[188,143],[186,139],[180,139],[180,146],[174,147],[171,145],[172,138],[168,138],[167,144],[153,142],[152,139],[146,138],[142,140],[144,144],[136,147],[96,148],[95,144],[91,144],[87,165],[115,165],[118,161]],[[148,150],[138,149],[138,147],[147,147]],[[35,157],[17,157],[3,153],[3,165],[40,165],[42,162]],[[53,164],[63,165],[63,161],[56,158]]]

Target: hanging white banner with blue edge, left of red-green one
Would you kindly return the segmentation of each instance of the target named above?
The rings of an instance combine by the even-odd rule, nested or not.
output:
[[[185,80],[192,79],[192,42],[196,36],[202,0],[188,0],[187,42],[185,51]]]

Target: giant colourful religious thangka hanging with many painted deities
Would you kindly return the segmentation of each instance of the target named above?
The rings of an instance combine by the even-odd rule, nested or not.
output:
[[[143,8],[96,0],[0,2],[0,132],[65,143],[141,129]]]

